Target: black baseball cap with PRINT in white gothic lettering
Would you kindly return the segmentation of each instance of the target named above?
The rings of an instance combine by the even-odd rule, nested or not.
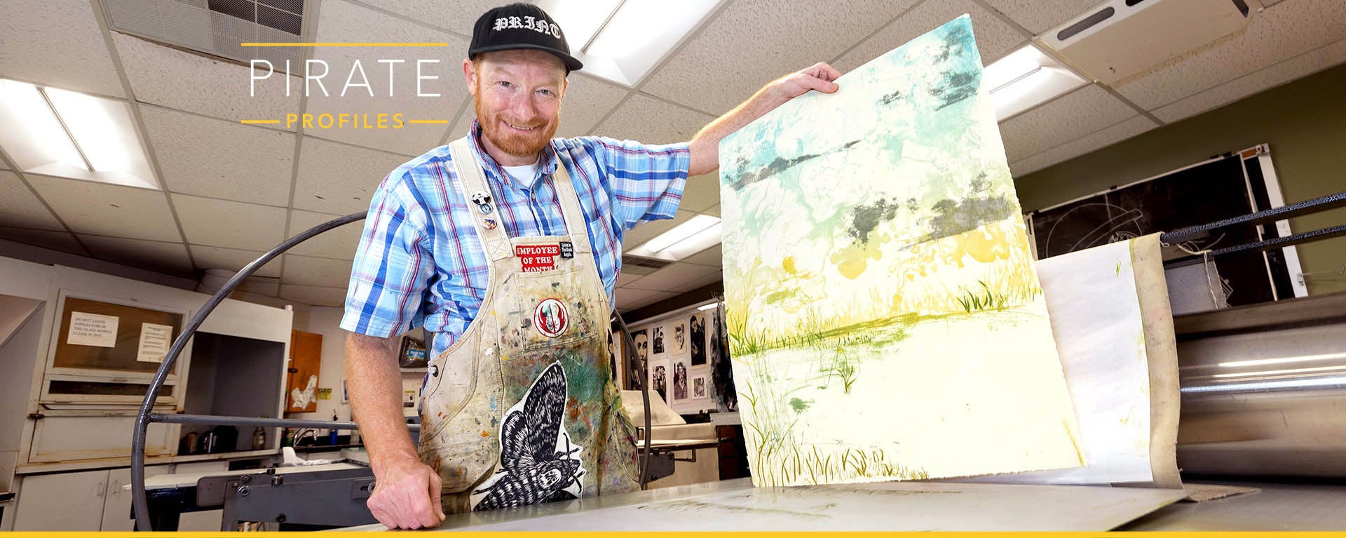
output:
[[[472,44],[467,49],[468,58],[481,53],[514,49],[544,50],[561,58],[565,69],[571,71],[584,69],[584,63],[571,55],[571,46],[565,43],[561,27],[537,5],[524,3],[501,5],[476,19],[476,26],[472,27]]]

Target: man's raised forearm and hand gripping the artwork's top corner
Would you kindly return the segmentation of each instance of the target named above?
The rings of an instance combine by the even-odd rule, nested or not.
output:
[[[692,150],[692,162],[688,165],[686,175],[709,174],[720,167],[720,139],[783,105],[785,101],[809,93],[809,90],[836,93],[840,89],[836,84],[837,78],[841,78],[840,71],[826,62],[818,62],[808,69],[767,82],[747,101],[715,119],[692,138],[688,143]]]

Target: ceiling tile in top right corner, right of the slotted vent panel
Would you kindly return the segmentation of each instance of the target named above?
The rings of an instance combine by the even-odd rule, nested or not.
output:
[[[1123,97],[1152,111],[1342,39],[1346,39],[1346,3],[1285,1],[1253,15],[1240,34],[1113,86]]]

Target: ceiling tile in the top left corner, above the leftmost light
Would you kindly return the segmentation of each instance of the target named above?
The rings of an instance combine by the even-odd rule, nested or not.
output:
[[[89,0],[0,1],[0,73],[125,97]]]

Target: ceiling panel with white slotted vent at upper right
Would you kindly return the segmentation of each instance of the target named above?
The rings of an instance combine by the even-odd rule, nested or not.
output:
[[[1038,42],[1113,84],[1233,34],[1250,15],[1245,0],[1108,0]]]

